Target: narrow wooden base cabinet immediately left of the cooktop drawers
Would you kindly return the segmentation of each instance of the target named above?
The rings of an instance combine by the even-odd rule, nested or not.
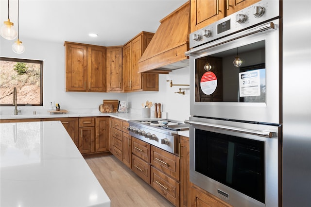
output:
[[[122,121],[122,162],[128,167],[132,166],[132,136],[128,133],[129,123]]]

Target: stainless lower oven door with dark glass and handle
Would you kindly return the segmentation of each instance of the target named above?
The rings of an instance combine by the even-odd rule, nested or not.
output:
[[[277,207],[281,126],[190,118],[190,181],[237,207]]]

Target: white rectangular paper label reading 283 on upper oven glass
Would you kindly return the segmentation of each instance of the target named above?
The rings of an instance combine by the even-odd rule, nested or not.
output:
[[[259,69],[239,73],[240,97],[260,96]]]

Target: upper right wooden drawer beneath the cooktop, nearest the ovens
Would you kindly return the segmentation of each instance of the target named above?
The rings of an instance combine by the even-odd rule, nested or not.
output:
[[[180,161],[178,156],[151,146],[151,165],[179,181]]]

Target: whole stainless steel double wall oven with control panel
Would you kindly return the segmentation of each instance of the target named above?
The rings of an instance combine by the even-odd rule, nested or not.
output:
[[[261,0],[190,34],[190,181],[237,207],[281,202],[280,26]]]

